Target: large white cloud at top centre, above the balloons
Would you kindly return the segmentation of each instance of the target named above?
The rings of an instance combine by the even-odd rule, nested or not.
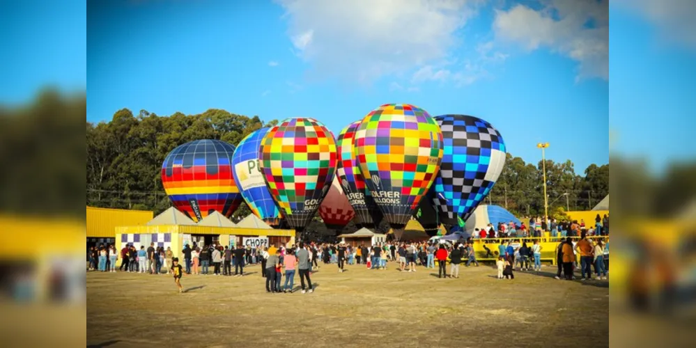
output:
[[[370,84],[446,59],[481,0],[277,2],[295,52],[311,63],[314,77]]]

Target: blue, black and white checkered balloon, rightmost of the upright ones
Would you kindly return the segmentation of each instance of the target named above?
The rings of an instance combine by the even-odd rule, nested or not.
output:
[[[465,115],[435,117],[444,136],[440,173],[430,196],[444,225],[458,226],[484,200],[505,165],[505,143],[490,123]]]

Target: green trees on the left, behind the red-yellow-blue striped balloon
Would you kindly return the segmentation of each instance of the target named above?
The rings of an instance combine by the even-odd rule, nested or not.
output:
[[[277,124],[272,120],[270,124]],[[219,139],[233,145],[264,127],[251,118],[210,109],[197,115],[158,116],[146,110],[114,113],[109,122],[86,123],[86,203],[95,207],[152,209],[170,207],[160,171],[167,154],[178,145],[198,139]],[[236,216],[251,211],[242,205]]]

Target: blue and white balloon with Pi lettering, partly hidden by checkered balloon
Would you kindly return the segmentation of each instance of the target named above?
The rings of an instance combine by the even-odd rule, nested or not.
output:
[[[261,148],[261,141],[269,129],[261,128],[245,136],[232,155],[232,166],[234,180],[249,209],[270,226],[278,226],[281,215],[266,187],[258,163],[258,149]]]

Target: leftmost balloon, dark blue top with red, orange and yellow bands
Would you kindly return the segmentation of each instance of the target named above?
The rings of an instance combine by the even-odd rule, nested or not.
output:
[[[169,152],[162,164],[162,185],[171,203],[193,221],[212,212],[230,217],[242,203],[232,177],[234,146],[196,140]]]

